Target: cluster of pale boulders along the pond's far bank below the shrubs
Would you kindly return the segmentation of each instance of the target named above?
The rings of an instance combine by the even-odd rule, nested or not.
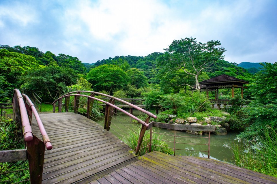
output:
[[[230,116],[228,112],[222,112],[225,116]],[[226,135],[227,131],[230,130],[230,125],[228,123],[225,123],[226,117],[217,117],[217,116],[209,116],[209,117],[203,117],[204,121],[197,121],[196,117],[188,117],[186,119],[176,118],[176,115],[168,114],[168,119],[165,119],[166,123],[175,124],[175,125],[206,125],[206,126],[216,126],[215,132],[212,132],[216,135]],[[189,134],[194,135],[202,135],[203,133],[208,132],[197,132],[197,131],[186,131]]]

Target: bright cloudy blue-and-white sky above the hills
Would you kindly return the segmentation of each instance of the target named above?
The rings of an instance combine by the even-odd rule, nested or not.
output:
[[[225,60],[277,61],[276,0],[1,0],[0,44],[95,63],[163,52],[173,40],[220,40]]]

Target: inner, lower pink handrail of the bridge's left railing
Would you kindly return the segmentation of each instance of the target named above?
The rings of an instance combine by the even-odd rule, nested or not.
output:
[[[42,121],[41,121],[41,119],[40,119],[40,116],[38,115],[38,112],[37,112],[37,110],[35,109],[35,105],[33,104],[33,102],[31,101],[31,99],[30,99],[27,95],[25,95],[25,94],[22,94],[22,95],[26,98],[26,100],[27,100],[28,103],[30,104],[30,107],[31,107],[31,109],[32,109],[32,111],[33,111],[33,114],[35,115],[35,119],[36,119],[36,121],[37,121],[37,123],[38,123],[38,127],[39,127],[39,129],[40,129],[40,133],[41,133],[41,135],[42,135],[42,140],[43,140],[43,143],[44,143],[46,149],[47,149],[47,150],[51,150],[51,149],[53,148],[53,147],[52,147],[52,144],[51,144],[51,141],[50,141],[50,139],[49,139],[49,137],[48,137],[48,135],[47,135],[47,133],[46,133],[46,130],[44,129],[44,126],[43,126],[43,124],[42,124]]]

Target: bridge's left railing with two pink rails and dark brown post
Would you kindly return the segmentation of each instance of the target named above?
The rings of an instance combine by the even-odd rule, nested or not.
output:
[[[14,120],[20,125],[24,137],[25,149],[0,151],[0,162],[16,162],[28,159],[31,183],[41,183],[45,147],[47,150],[51,150],[52,144],[34,104],[27,95],[14,89],[12,107]],[[38,123],[43,141],[32,132],[32,114]]]

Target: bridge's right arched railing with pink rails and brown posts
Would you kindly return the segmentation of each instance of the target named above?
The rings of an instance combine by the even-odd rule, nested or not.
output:
[[[108,97],[107,101],[100,99],[103,97]],[[151,117],[154,119],[157,118],[156,115],[152,114],[151,112],[148,112],[147,110],[144,110],[144,109],[142,109],[134,104],[131,104],[129,102],[126,102],[122,99],[119,99],[119,98],[116,98],[116,97],[113,97],[110,95],[106,95],[103,93],[98,93],[98,92],[94,92],[94,91],[74,91],[71,93],[67,93],[67,94],[59,97],[57,100],[55,100],[52,103],[53,112],[56,112],[56,103],[58,106],[58,110],[57,110],[58,112],[62,112],[62,111],[69,112],[70,105],[73,105],[72,111],[74,113],[83,114],[83,115],[86,115],[87,118],[93,119],[94,100],[97,100],[98,102],[100,102],[102,104],[106,104],[105,112],[103,112],[103,114],[104,114],[104,129],[106,129],[106,131],[110,130],[111,119],[116,110],[123,112],[124,114],[128,115],[129,117],[131,117],[132,119],[136,120],[137,122],[139,122],[141,124],[141,131],[139,134],[139,140],[138,140],[138,143],[136,146],[136,152],[135,152],[135,154],[138,154],[145,131],[150,128],[149,127],[150,118]],[[136,110],[139,110],[139,111],[143,112],[144,114],[147,114],[148,117],[146,118],[145,121],[143,121],[143,120],[139,119],[138,117],[135,117],[133,114],[116,106],[115,105],[116,101],[120,102],[122,104],[126,104]],[[86,112],[79,112],[80,111],[79,109],[84,108],[84,107],[86,109]]]

